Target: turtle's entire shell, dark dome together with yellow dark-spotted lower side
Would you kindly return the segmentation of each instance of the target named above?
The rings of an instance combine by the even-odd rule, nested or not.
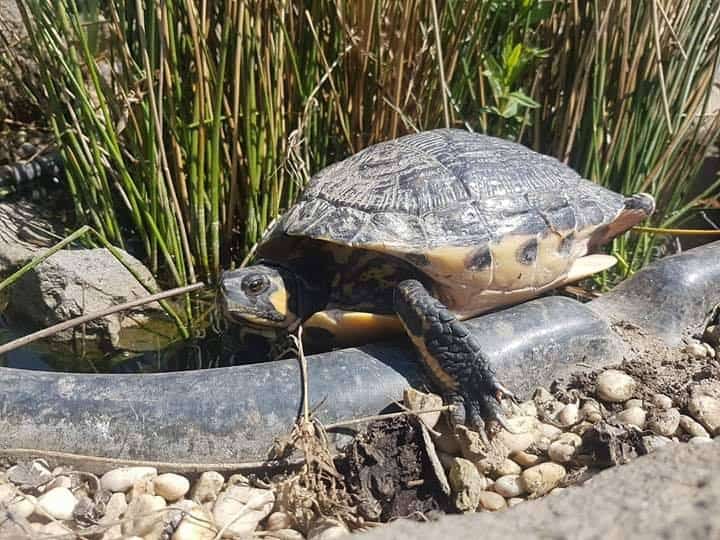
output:
[[[323,169],[266,240],[311,238],[401,258],[434,280],[447,303],[462,306],[468,287],[530,297],[562,281],[593,233],[624,208],[624,196],[552,157],[438,129]],[[474,302],[469,311],[482,309]]]

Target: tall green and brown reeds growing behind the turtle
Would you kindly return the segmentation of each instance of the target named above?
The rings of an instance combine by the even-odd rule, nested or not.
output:
[[[403,133],[522,141],[654,193],[658,225],[694,208],[717,133],[720,0],[18,3],[79,220],[177,285],[238,259],[309,174]],[[614,250],[629,272],[655,242]]]

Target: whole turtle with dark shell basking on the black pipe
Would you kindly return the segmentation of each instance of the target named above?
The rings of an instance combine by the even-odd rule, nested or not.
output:
[[[404,329],[453,420],[506,426],[498,380],[463,322],[615,263],[596,253],[654,211],[518,143],[436,129],[369,146],[308,182],[257,262],[220,279],[246,328],[337,336]]]

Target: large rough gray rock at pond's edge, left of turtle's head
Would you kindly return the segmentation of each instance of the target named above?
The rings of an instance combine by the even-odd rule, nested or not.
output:
[[[122,254],[143,281],[155,285],[147,268],[131,255]],[[62,250],[11,287],[9,308],[36,324],[50,326],[144,296],[148,296],[145,288],[108,250]],[[82,331],[87,337],[117,346],[121,332],[142,323],[150,311],[158,314],[159,306],[97,319],[82,329],[61,332],[56,339],[71,340]]]

